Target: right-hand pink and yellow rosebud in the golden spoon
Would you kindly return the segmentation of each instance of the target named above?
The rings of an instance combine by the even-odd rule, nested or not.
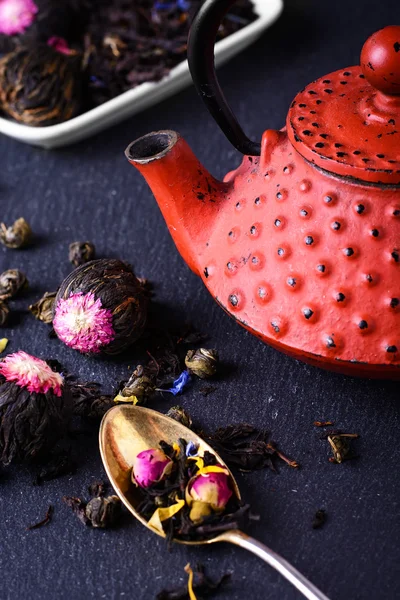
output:
[[[231,496],[232,489],[227,472],[195,475],[186,489],[190,520],[199,523],[213,512],[222,512]]]

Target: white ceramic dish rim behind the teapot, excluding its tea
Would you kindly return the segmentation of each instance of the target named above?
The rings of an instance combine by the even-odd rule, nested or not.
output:
[[[253,0],[253,3],[258,19],[215,45],[217,66],[227,62],[260,37],[278,18],[283,7],[283,0]],[[161,81],[143,83],[65,123],[49,127],[29,127],[0,117],[0,133],[43,148],[66,146],[153,106],[190,83],[189,67],[185,60]]]

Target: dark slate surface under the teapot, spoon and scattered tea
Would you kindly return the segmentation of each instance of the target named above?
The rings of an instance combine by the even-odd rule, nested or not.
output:
[[[400,21],[397,0],[320,2],[291,0],[281,20],[262,40],[221,70],[221,81],[252,137],[280,127],[297,90],[312,79],[358,61],[374,30]],[[68,243],[90,239],[100,256],[131,261],[155,284],[159,314],[174,314],[210,333],[226,364],[217,391],[204,398],[194,387],[181,402],[204,426],[247,420],[273,432],[302,465],[279,475],[239,476],[243,496],[262,519],[253,533],[295,564],[332,600],[390,600],[400,595],[396,577],[398,519],[399,387],[333,375],[286,358],[230,320],[184,265],[151,193],[123,156],[135,137],[176,128],[217,176],[240,157],[188,89],[156,108],[77,146],[42,151],[0,139],[1,218],[24,215],[37,235],[33,248],[0,250],[1,269],[26,271],[31,291],[18,301],[14,324],[4,330],[9,350],[61,360],[81,378],[111,390],[139,356],[119,360],[79,356],[23,313],[30,300],[56,287],[69,272]],[[3,335],[3,332],[2,332]],[[396,402],[397,401],[397,402]],[[173,400],[154,406],[166,409]],[[361,434],[360,458],[341,466],[328,462],[315,419]],[[76,475],[32,487],[32,473],[10,469],[0,480],[0,597],[154,598],[164,585],[183,582],[184,565],[204,562],[212,574],[233,571],[222,598],[294,600],[299,595],[269,567],[228,546],[168,553],[164,542],[129,516],[109,532],[85,529],[62,504],[64,494],[84,494],[103,475],[95,429],[75,441]],[[42,518],[49,503],[53,522]],[[311,529],[325,508],[325,527]]]

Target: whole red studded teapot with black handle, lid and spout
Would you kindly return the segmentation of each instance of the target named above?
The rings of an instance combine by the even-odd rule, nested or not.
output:
[[[361,66],[308,85],[286,126],[244,134],[213,46],[233,0],[206,0],[189,37],[194,83],[245,156],[223,182],[174,131],[126,150],[176,246],[220,306],[274,348],[348,375],[400,379],[400,26]]]

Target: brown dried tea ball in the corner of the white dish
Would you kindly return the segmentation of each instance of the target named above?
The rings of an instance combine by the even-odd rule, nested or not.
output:
[[[47,44],[18,46],[0,60],[1,109],[35,127],[71,119],[82,105],[81,62]]]

